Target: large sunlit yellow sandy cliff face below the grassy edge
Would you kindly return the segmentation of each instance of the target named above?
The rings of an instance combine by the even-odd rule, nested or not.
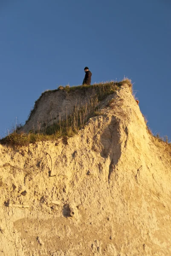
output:
[[[126,84],[109,97],[72,138],[0,145],[0,255],[171,255],[171,152]]]

